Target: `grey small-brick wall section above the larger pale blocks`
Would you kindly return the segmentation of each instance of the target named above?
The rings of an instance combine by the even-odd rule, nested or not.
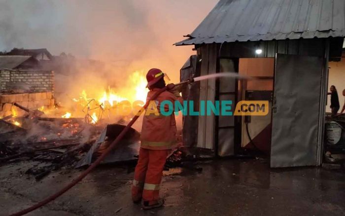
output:
[[[1,70],[0,91],[26,86],[26,92],[54,92],[54,71]]]

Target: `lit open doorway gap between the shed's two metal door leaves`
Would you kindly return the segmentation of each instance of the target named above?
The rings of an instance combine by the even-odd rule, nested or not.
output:
[[[267,156],[271,151],[274,73],[275,58],[240,58],[239,74],[254,79],[239,81],[239,99],[269,104],[265,116],[242,116],[241,147]]]

